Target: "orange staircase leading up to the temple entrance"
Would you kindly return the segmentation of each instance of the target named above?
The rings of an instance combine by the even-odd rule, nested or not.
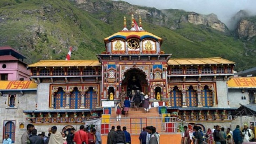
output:
[[[130,108],[129,116],[124,117],[124,115],[122,115],[120,121],[116,121],[115,108],[112,108],[110,124],[110,126],[120,125],[121,128],[125,126],[127,127],[127,131],[131,134],[140,134],[143,127],[151,125],[156,127],[157,132],[165,131],[158,108],[152,108],[148,113],[144,112],[144,108],[139,108],[138,111],[134,108]]]

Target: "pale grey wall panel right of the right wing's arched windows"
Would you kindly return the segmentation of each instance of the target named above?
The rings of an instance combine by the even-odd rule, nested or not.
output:
[[[218,107],[228,107],[227,84],[226,81],[216,81]]]

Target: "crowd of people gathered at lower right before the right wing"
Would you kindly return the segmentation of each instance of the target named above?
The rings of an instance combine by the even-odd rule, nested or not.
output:
[[[248,128],[248,124],[244,123],[242,131],[239,125],[236,125],[234,131],[231,131],[231,128],[227,128],[225,131],[224,127],[216,125],[213,129],[208,128],[206,133],[202,131],[201,127],[194,126],[192,135],[188,127],[184,126],[183,144],[204,144],[204,142],[208,144],[242,144],[251,141],[256,141],[253,124]]]

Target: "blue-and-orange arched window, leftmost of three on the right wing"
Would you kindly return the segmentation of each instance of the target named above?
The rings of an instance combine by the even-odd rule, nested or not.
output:
[[[170,93],[170,101],[172,107],[181,107],[182,106],[182,94],[177,86],[175,86]]]

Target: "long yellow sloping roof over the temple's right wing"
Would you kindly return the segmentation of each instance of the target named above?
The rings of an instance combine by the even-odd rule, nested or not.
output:
[[[193,64],[235,64],[235,62],[223,59],[221,57],[184,58],[184,59],[168,60],[168,65],[193,65]]]

